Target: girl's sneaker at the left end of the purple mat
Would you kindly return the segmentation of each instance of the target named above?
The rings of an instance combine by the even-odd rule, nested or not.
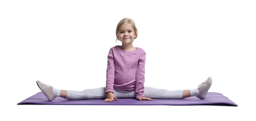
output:
[[[53,87],[43,84],[40,81],[36,81],[37,86],[42,90],[43,94],[48,98],[49,101],[53,101],[55,99],[55,94],[53,94]]]

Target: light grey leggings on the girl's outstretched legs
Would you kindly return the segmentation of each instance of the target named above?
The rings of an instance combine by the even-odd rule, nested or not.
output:
[[[107,97],[105,87],[85,89],[83,91],[67,90],[67,93],[66,99],[68,100],[105,99]],[[136,98],[135,91],[123,91],[114,88],[114,94],[117,98]],[[145,87],[143,94],[145,97],[154,99],[182,99],[183,90],[169,91],[166,89]]]

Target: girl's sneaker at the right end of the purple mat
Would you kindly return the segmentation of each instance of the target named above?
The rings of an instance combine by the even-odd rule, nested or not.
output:
[[[203,83],[201,83],[201,85],[198,86],[198,89],[200,90],[200,93],[197,95],[198,98],[200,98],[201,100],[203,100],[209,90],[209,88],[212,85],[212,78],[208,77],[208,79],[206,81],[204,81]]]

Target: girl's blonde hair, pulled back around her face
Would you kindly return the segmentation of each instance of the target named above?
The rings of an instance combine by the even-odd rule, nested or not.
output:
[[[122,19],[122,20],[120,20],[120,21],[118,22],[118,26],[117,26],[117,29],[116,29],[117,40],[119,40],[118,30],[119,30],[120,27],[121,27],[122,25],[124,25],[125,23],[131,24],[131,27],[133,28],[133,30],[134,30],[134,32],[135,32],[135,35],[136,35],[136,36],[134,37],[134,39],[136,39],[137,36],[138,36],[138,29],[137,29],[137,27],[136,27],[136,24],[135,24],[134,20],[132,20],[131,18],[124,18],[124,19]],[[117,40],[116,40],[116,42],[117,42]]]

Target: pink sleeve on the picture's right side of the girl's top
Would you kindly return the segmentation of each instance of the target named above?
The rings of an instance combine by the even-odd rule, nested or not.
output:
[[[135,77],[135,93],[136,99],[139,97],[144,97],[144,82],[145,82],[145,60],[146,53],[142,53],[138,60],[138,68]]]

